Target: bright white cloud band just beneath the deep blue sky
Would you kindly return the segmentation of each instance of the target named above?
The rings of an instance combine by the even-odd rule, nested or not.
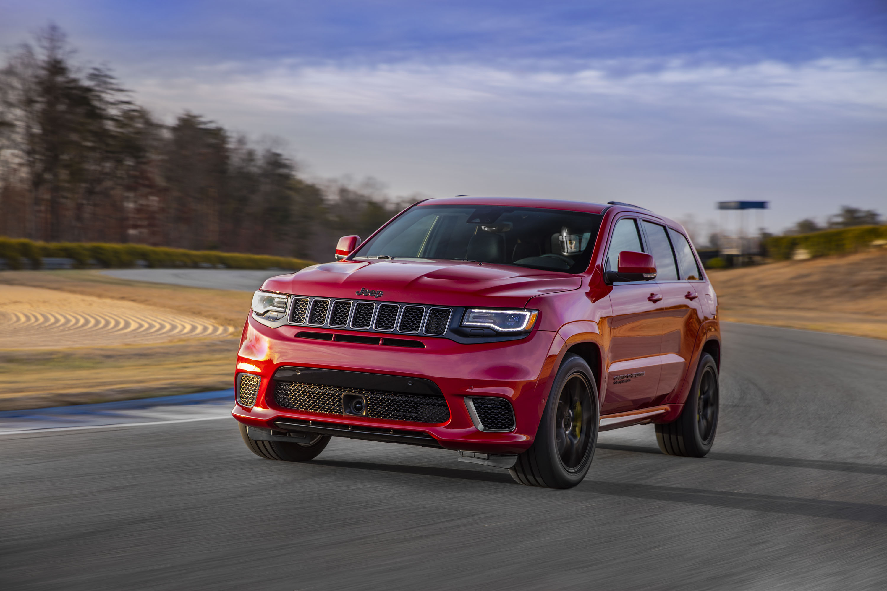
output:
[[[185,97],[276,113],[396,116],[450,121],[496,112],[556,108],[628,111],[703,108],[708,113],[769,117],[794,111],[816,116],[883,119],[887,62],[823,59],[792,66],[682,66],[612,74],[612,64],[573,73],[418,63],[359,66],[224,64],[192,77],[145,80],[143,95],[167,107]],[[630,113],[628,113],[630,114]]]

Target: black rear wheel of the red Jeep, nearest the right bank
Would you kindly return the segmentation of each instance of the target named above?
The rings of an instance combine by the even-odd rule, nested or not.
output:
[[[656,443],[663,454],[704,457],[709,453],[718,431],[718,390],[718,365],[703,353],[680,416],[656,425]]]

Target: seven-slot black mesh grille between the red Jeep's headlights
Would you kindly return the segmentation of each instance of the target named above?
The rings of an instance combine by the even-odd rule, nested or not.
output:
[[[293,296],[289,323],[443,337],[451,317],[449,307]]]

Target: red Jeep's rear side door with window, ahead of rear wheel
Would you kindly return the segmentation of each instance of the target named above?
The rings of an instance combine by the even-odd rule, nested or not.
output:
[[[699,331],[698,298],[688,293],[689,284],[681,279],[682,269],[675,257],[670,229],[649,220],[644,220],[640,225],[656,261],[655,283],[663,298],[659,302],[662,307],[659,324],[662,337],[659,360],[662,369],[655,396],[650,400],[655,405],[675,389],[693,355],[696,333]]]

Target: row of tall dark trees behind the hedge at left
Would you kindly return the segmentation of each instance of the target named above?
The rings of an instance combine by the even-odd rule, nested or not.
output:
[[[108,67],[74,57],[50,25],[0,70],[0,233],[326,260],[338,236],[367,237],[419,198],[306,182],[278,139],[199,114],[162,125]]]

